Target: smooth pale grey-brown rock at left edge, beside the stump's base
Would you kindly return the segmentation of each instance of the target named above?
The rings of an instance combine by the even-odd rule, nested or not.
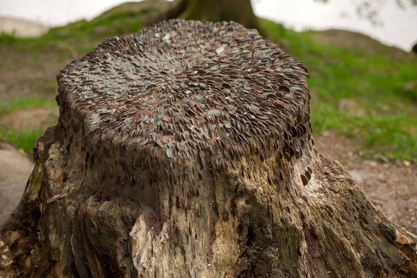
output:
[[[18,149],[0,142],[0,224],[19,204],[33,162]]]

